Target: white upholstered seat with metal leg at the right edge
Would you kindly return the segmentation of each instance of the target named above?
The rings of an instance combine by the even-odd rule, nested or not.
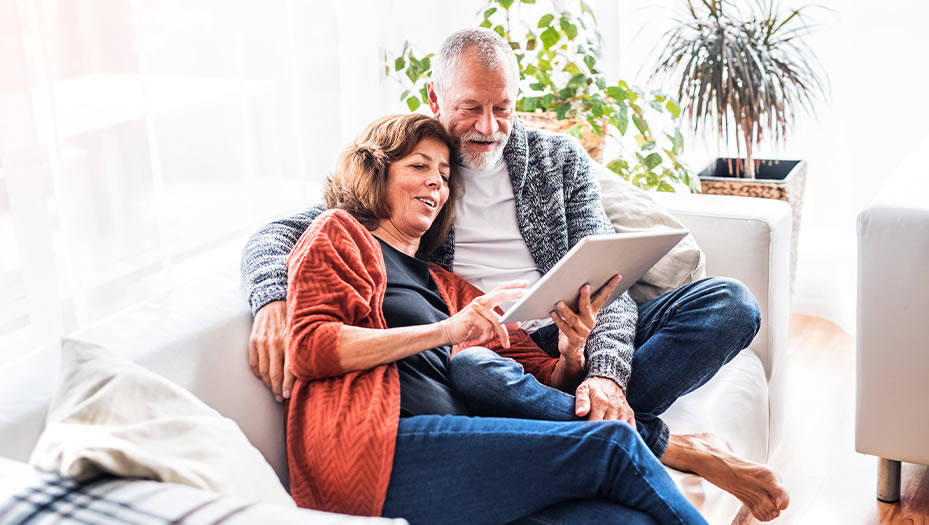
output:
[[[877,497],[900,462],[929,465],[929,137],[858,215],[855,449],[878,456]]]

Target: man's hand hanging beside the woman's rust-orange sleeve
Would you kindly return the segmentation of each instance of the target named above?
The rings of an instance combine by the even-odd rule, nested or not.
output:
[[[274,398],[290,398],[294,376],[287,357],[287,302],[272,301],[255,315],[248,339],[248,366],[274,392]]]

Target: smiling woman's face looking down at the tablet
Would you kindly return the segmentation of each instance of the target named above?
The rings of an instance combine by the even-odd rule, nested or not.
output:
[[[387,175],[390,218],[384,222],[412,239],[422,237],[448,200],[450,170],[448,146],[434,138],[394,161]]]

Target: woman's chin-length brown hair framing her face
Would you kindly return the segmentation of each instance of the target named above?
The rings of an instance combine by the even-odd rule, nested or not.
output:
[[[387,176],[390,165],[413,153],[426,138],[448,146],[451,164],[448,200],[419,242],[419,254],[428,255],[445,242],[455,222],[455,205],[463,187],[455,167],[455,140],[438,120],[420,114],[381,117],[345,148],[335,173],[326,180],[323,198],[327,208],[340,208],[358,219],[368,230],[390,218]]]

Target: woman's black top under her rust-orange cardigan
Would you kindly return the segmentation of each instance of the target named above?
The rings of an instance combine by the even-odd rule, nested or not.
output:
[[[430,324],[448,319],[448,307],[429,273],[429,265],[381,243],[387,270],[384,319],[388,328]],[[400,417],[468,415],[448,383],[451,347],[438,346],[397,361],[400,372]]]

